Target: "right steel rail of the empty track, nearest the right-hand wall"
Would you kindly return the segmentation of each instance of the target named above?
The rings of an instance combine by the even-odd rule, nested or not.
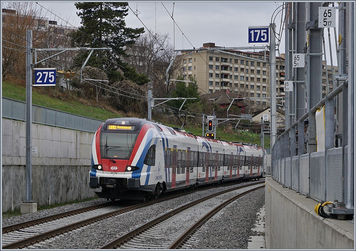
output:
[[[184,244],[183,242],[185,242],[185,240],[187,238],[189,238],[191,236],[191,234],[197,230],[197,228],[199,228],[206,221],[208,221],[212,216],[214,216],[214,214],[219,212],[221,210],[221,208],[227,206],[229,203],[231,203],[232,201],[238,199],[239,197],[244,196],[244,195],[246,195],[248,193],[251,193],[252,191],[255,191],[255,190],[260,189],[260,188],[263,188],[263,185],[262,186],[258,186],[257,188],[252,188],[252,189],[250,189],[250,190],[248,190],[246,192],[243,192],[241,194],[238,194],[238,195],[232,197],[231,199],[221,203],[219,206],[213,208],[209,213],[205,214],[197,222],[195,222],[190,228],[185,230],[185,232],[182,235],[180,235],[177,240],[172,242],[172,244],[169,245],[167,247],[167,249],[177,249],[178,247],[181,247],[182,244]]]

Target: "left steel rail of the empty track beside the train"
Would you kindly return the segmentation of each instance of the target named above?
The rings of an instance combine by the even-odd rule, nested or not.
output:
[[[243,185],[243,186],[238,186],[236,188],[230,188],[230,189],[227,189],[227,190],[224,190],[224,191],[220,191],[218,193],[215,193],[215,194],[211,194],[211,195],[207,195],[207,196],[204,196],[203,198],[200,198],[198,200],[195,200],[195,201],[192,201],[192,202],[189,202],[183,206],[180,206],[176,209],[173,209],[161,216],[158,216],[157,218],[154,218],[152,219],[151,221],[148,221],[140,226],[138,226],[137,228],[134,228],[132,230],[130,230],[129,232],[119,236],[118,238],[106,243],[105,245],[99,247],[99,249],[116,249],[117,246],[120,246],[120,245],[124,245],[125,242],[131,240],[132,238],[134,238],[136,235],[138,234],[141,234],[143,231],[147,230],[148,228],[151,228],[153,226],[155,226],[156,224],[158,224],[159,222],[173,216],[174,214],[177,214],[189,207],[192,207],[202,201],[205,201],[205,200],[208,200],[212,197],[215,197],[215,196],[218,196],[218,195],[221,195],[221,194],[224,194],[224,193],[228,193],[230,191],[234,191],[234,190],[237,190],[237,189],[240,189],[240,188],[245,188],[245,187],[248,187],[248,186],[251,186],[251,185],[256,185],[256,184],[261,184],[261,183],[264,183],[265,181],[262,181],[262,182],[256,182],[254,184],[248,184],[248,185]]]

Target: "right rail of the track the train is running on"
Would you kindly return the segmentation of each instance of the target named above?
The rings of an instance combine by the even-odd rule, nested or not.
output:
[[[263,180],[261,182],[256,182],[256,183],[253,183],[253,184],[260,184],[260,183],[263,183],[263,182],[265,182],[265,181]],[[227,186],[227,185],[231,185],[231,184],[224,184],[222,186]],[[238,186],[237,188],[243,188],[245,186],[249,186],[249,185],[242,185],[242,186]],[[121,208],[119,210],[111,211],[111,212],[108,212],[108,213],[104,213],[104,214],[101,214],[100,216],[91,217],[91,218],[85,219],[83,221],[75,222],[75,223],[60,227],[60,228],[53,229],[51,231],[48,231],[48,232],[45,232],[45,233],[42,233],[42,234],[37,234],[37,235],[31,236],[29,238],[25,238],[25,239],[22,239],[22,240],[19,240],[19,241],[12,242],[10,244],[3,245],[2,249],[19,249],[19,248],[21,249],[22,247],[27,247],[29,245],[33,245],[33,244],[38,243],[40,241],[44,241],[46,239],[53,238],[54,236],[57,236],[57,235],[72,231],[74,229],[83,227],[85,225],[89,225],[89,224],[92,224],[94,222],[98,222],[98,221],[101,221],[103,219],[106,219],[106,218],[109,218],[109,217],[112,217],[112,216],[116,216],[117,214],[129,212],[129,211],[132,211],[132,210],[135,210],[135,209],[138,209],[138,208],[141,208],[141,207],[145,207],[145,206],[148,206],[148,205],[151,205],[151,204],[154,204],[154,203],[158,203],[158,202],[169,200],[169,199],[174,199],[176,197],[180,197],[180,196],[183,196],[183,195],[194,193],[196,191],[206,190],[206,189],[209,189],[209,188],[211,188],[211,187],[202,188],[202,189],[198,189],[198,190],[192,190],[192,191],[189,191],[189,192],[186,192],[186,193],[182,193],[182,194],[171,195],[171,196],[163,197],[163,198],[160,198],[160,199],[143,202],[143,203],[140,203],[140,204],[137,204],[137,205]],[[111,203],[111,202],[107,202],[107,203]],[[112,203],[114,203],[114,201]],[[54,216],[56,216],[56,215],[54,215]]]

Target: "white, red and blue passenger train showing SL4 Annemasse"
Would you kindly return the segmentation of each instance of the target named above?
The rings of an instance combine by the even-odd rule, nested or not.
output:
[[[92,143],[90,188],[100,198],[146,200],[199,184],[262,178],[263,149],[196,136],[139,118],[111,118]]]

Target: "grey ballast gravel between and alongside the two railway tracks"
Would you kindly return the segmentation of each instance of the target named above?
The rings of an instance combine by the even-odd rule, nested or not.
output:
[[[98,247],[106,244],[107,242],[119,237],[120,235],[128,232],[129,230],[137,227],[138,225],[141,225],[143,223],[146,223],[147,221],[150,221],[151,219],[168,212],[169,210],[172,210],[173,208],[179,207],[184,205],[185,203],[188,203],[190,201],[199,199],[201,197],[204,197],[206,195],[210,195],[213,193],[216,193],[218,191],[226,190],[232,187],[236,186],[241,186],[245,184],[251,184],[255,182],[248,182],[248,183],[243,183],[243,184],[235,184],[231,186],[226,186],[226,187],[220,187],[220,188],[212,188],[209,190],[204,190],[204,191],[197,191],[195,193],[186,195],[186,196],[181,196],[175,199],[167,200],[167,201],[162,201],[144,208],[138,208],[136,210],[122,213],[120,215],[105,219],[100,222],[96,222],[93,224],[90,224],[88,226],[85,226],[80,229],[73,230],[72,232],[68,232],[66,234],[63,234],[59,236],[60,238],[54,239],[51,242],[40,242],[39,245],[36,245],[36,247],[29,247],[29,248],[37,248],[37,249],[97,249]],[[245,188],[248,190],[249,188]],[[263,193],[261,192],[263,190]],[[258,194],[258,196],[257,196]],[[247,248],[247,241],[248,237],[250,235],[253,235],[251,228],[253,227],[253,223],[255,222],[256,218],[256,212],[258,212],[258,209],[265,203],[264,201],[264,189],[259,189],[255,192],[252,193],[252,195],[245,195],[245,196],[250,196],[247,197],[246,200],[237,200],[238,203],[234,206],[231,206],[231,210],[227,210],[224,214],[221,215],[221,218],[224,218],[222,222],[220,222],[217,225],[214,225],[214,227],[211,228],[211,233],[209,234],[204,234],[202,237],[199,237],[197,241],[202,241],[201,244],[198,245],[198,242],[192,243],[190,245],[196,245],[193,248],[194,249],[242,249],[242,248]],[[245,197],[244,196],[244,197]],[[257,196],[257,197],[256,197]],[[92,202],[92,203],[103,203],[106,200],[99,199],[101,202]],[[88,201],[89,202],[89,201]],[[88,202],[82,202],[82,203],[88,203]],[[90,203],[90,202],[89,202]],[[81,203],[78,203],[81,204]],[[75,209],[75,205],[78,204],[72,204],[70,205],[71,209],[67,210],[73,210]],[[69,206],[69,205],[67,205]],[[85,204],[85,206],[89,206]],[[77,208],[84,207],[83,204],[80,206],[78,205]],[[51,209],[51,210],[54,210]],[[58,210],[58,208],[57,208]],[[46,210],[48,211],[48,210]],[[41,211],[40,211],[41,212]],[[31,213],[31,216],[27,216],[27,218],[22,215],[22,216],[15,216],[15,217],[10,217],[6,218],[7,222],[11,222],[11,218],[15,218],[16,221],[21,222],[26,219],[33,219],[36,217],[43,217],[51,213],[56,213],[56,211],[52,211],[51,213],[49,212],[44,212],[44,213]],[[58,211],[62,212],[62,211]],[[230,213],[232,215],[230,215]],[[38,214],[41,216],[33,216],[33,214]],[[239,217],[235,217],[235,216]],[[17,219],[17,217],[21,217],[20,219]],[[213,223],[209,224],[215,224],[215,222],[220,221],[220,219],[217,219]],[[225,222],[227,224],[225,224]],[[4,219],[3,219],[3,224],[4,224]],[[9,224],[14,224],[13,221]],[[235,229],[236,228],[236,229]],[[222,235],[218,234],[220,231]],[[234,234],[231,232],[234,231]],[[215,233],[214,233],[215,232]],[[237,236],[236,236],[237,235]],[[224,238],[221,238],[221,236],[224,236]],[[231,238],[225,238],[225,236],[231,236],[231,238],[237,239],[236,241],[231,241]],[[217,241],[219,240],[219,241]],[[197,246],[198,245],[198,246]]]

